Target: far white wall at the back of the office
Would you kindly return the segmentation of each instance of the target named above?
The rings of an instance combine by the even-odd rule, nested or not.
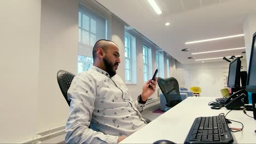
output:
[[[243,69],[247,71],[246,59],[241,59]],[[199,86],[202,88],[202,97],[219,97],[220,89],[226,87],[226,77],[228,76],[229,62],[181,64],[176,62],[176,73],[174,77],[179,82],[179,87],[190,88]],[[209,95],[209,93],[211,93]]]

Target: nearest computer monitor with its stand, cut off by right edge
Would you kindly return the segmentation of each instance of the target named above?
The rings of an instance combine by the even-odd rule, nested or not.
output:
[[[252,107],[253,107],[253,117],[256,119],[256,32],[253,34],[252,47],[251,47],[251,57],[248,67],[248,76],[246,82],[246,91],[252,93]]]

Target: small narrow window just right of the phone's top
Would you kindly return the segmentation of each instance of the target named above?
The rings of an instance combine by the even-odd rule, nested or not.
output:
[[[156,68],[158,69],[158,76],[165,77],[165,69],[164,69],[164,53],[163,51],[156,51],[155,55],[156,59]]]

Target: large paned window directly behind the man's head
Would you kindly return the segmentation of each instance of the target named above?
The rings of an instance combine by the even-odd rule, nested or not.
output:
[[[99,39],[107,39],[107,20],[79,4],[78,11],[78,73],[87,71],[92,63],[92,49]]]

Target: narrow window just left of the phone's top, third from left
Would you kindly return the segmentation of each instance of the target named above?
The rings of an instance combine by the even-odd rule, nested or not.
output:
[[[151,79],[152,77],[150,77],[152,75],[152,53],[151,53],[151,49],[146,46],[143,45],[143,74],[144,74],[144,81],[148,81],[149,79]]]

